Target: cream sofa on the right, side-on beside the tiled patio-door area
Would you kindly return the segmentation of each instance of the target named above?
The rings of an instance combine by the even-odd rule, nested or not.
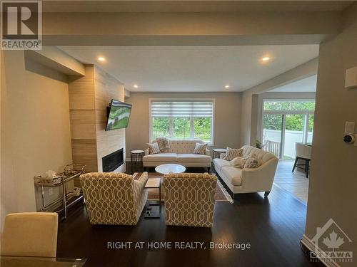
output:
[[[265,192],[264,196],[268,197],[273,186],[278,158],[250,145],[245,145],[242,148],[243,157],[256,156],[261,162],[261,166],[256,169],[239,169],[223,159],[226,154],[221,154],[220,159],[213,159],[218,177],[223,180],[232,194]]]

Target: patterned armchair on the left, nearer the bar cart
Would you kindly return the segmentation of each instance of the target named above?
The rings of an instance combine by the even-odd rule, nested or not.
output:
[[[135,225],[148,198],[148,173],[134,180],[129,174],[91,172],[80,177],[91,224]]]

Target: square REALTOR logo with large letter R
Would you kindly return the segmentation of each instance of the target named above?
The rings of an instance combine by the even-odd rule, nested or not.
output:
[[[1,49],[42,48],[42,2],[1,1]]]

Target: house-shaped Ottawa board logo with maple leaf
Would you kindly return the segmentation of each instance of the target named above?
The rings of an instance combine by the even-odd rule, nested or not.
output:
[[[343,245],[352,240],[333,219],[329,219],[323,227],[318,227],[311,241],[315,244],[315,250],[310,253],[311,261],[316,258],[326,263],[353,261],[353,251],[343,249]]]

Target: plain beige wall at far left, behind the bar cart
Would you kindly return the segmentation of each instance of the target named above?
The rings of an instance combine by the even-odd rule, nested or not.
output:
[[[70,163],[68,85],[25,69],[24,51],[1,58],[1,222],[36,211],[35,175]]]

